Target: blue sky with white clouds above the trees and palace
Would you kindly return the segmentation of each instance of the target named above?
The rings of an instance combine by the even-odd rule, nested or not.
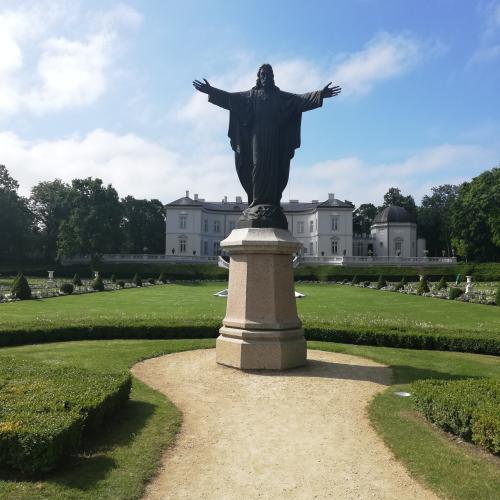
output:
[[[100,177],[120,196],[242,195],[227,112],[263,62],[303,116],[283,198],[417,202],[500,164],[500,1],[0,0],[0,163],[23,194]]]

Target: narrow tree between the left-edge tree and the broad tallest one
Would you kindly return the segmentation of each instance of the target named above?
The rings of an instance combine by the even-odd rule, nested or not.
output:
[[[57,256],[59,227],[69,214],[70,186],[60,179],[40,182],[31,190],[30,207],[40,231],[41,249],[46,259]]]

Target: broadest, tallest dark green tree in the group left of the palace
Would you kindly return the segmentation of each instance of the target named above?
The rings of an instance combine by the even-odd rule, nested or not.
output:
[[[59,256],[90,255],[95,262],[103,253],[121,247],[122,207],[115,189],[101,179],[74,179],[68,193],[69,213],[57,240]]]

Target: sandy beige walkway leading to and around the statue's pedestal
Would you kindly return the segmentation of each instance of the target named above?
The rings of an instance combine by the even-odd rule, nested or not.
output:
[[[213,349],[135,365],[134,375],[184,415],[146,498],[435,498],[369,424],[367,404],[390,383],[389,368],[308,357],[307,367],[283,373],[219,366]]]

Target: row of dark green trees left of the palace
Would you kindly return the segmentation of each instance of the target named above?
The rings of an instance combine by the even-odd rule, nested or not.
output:
[[[0,165],[0,261],[103,253],[164,253],[165,208],[156,199],[120,199],[101,179],[40,182],[28,198]]]

